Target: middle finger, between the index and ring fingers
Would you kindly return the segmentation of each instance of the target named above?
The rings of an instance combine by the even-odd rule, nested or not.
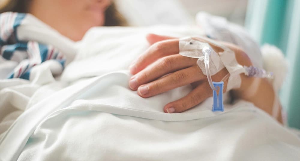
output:
[[[163,57],[134,75],[129,81],[129,87],[132,90],[137,90],[142,84],[153,81],[171,72],[195,65],[196,61],[197,59],[184,57],[180,54]]]

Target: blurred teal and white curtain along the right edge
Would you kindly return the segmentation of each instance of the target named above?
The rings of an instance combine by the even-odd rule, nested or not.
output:
[[[300,129],[300,0],[249,0],[245,27],[256,41],[280,48],[289,72],[280,91],[288,125]]]

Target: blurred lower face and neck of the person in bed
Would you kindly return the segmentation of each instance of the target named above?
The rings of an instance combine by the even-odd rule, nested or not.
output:
[[[32,0],[29,13],[74,41],[105,22],[110,0]]]

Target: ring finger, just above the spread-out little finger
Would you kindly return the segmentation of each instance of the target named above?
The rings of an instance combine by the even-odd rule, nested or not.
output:
[[[198,67],[192,66],[166,75],[156,81],[141,85],[137,89],[137,93],[141,97],[147,98],[204,78],[205,75],[199,72]]]

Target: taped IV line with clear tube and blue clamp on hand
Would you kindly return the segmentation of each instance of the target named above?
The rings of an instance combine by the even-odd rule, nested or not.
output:
[[[205,40],[222,50],[219,52],[214,51]],[[181,38],[179,40],[179,54],[185,57],[198,58],[197,65],[202,73],[207,76],[209,86],[213,92],[212,111],[224,111],[223,87],[225,81],[227,81],[226,90],[230,90],[240,86],[241,78],[239,75],[241,73],[248,77],[273,78],[273,73],[266,72],[264,69],[254,66],[241,66],[232,50],[205,37],[200,39],[193,37]],[[217,74],[223,68],[227,69],[228,74],[220,82],[213,82],[211,75]]]

